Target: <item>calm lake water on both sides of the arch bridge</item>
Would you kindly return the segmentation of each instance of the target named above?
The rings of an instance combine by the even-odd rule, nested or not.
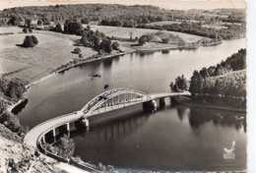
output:
[[[81,109],[103,92],[106,84],[109,89],[168,91],[176,76],[184,74],[189,79],[194,70],[216,65],[244,47],[245,39],[230,40],[197,50],[134,53],[70,69],[33,85],[18,117],[32,128]],[[100,73],[101,78],[91,80],[92,73]],[[232,113],[213,114],[215,111],[169,105],[155,114],[144,113],[141,105],[119,110],[111,113],[111,119],[103,121],[102,117],[109,117],[105,115],[93,120],[89,133],[74,137],[76,154],[120,170],[245,169],[243,121],[232,120]],[[223,115],[231,120],[226,121]],[[235,159],[224,160],[224,147],[230,148],[233,141]]]

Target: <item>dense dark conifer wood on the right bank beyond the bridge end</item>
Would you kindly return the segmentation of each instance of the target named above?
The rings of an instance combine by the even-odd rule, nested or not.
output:
[[[194,99],[246,106],[246,49],[217,66],[194,71],[189,91]]]

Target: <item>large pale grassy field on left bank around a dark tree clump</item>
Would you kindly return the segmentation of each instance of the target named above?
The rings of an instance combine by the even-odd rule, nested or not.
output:
[[[23,43],[26,35],[34,35],[39,43],[33,48],[16,46]],[[50,31],[36,31],[30,34],[16,33],[0,36],[1,74],[15,72],[10,76],[28,82],[36,81],[62,64],[68,63],[78,54],[71,53],[76,46],[74,40],[81,36]],[[91,48],[80,46],[84,57],[96,54]]]

